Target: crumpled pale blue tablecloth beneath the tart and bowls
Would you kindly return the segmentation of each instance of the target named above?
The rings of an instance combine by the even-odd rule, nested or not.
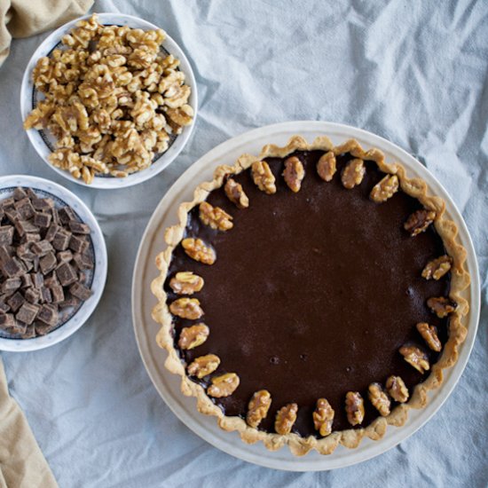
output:
[[[486,486],[488,482],[488,3],[99,1],[164,28],[193,64],[200,115],[158,177],[114,192],[68,184],[29,145],[20,80],[45,35],[14,41],[0,69],[0,172],[67,185],[98,217],[105,295],[66,342],[2,353],[9,388],[61,487]],[[482,320],[453,395],[417,434],[351,468],[295,474],[247,464],[185,427],[150,382],[132,331],[130,280],[158,201],[213,146],[291,120],[344,122],[417,154],[453,195],[475,241]]]

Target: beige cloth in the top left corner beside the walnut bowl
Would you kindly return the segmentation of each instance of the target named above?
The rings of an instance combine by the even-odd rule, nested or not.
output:
[[[93,0],[0,0],[0,66],[12,37],[28,37],[83,15]]]

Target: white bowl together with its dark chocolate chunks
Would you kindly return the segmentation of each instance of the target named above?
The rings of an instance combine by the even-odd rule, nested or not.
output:
[[[49,347],[91,316],[106,282],[91,210],[51,181],[0,177],[0,350]]]

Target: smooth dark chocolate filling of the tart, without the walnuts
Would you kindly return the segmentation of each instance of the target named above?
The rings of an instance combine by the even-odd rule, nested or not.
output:
[[[347,391],[365,398],[361,426],[378,417],[367,400],[371,382],[384,385],[390,374],[401,376],[409,390],[425,376],[409,366],[398,349],[405,342],[430,351],[415,329],[417,322],[437,326],[447,340],[448,321],[437,319],[426,305],[430,296],[448,295],[450,276],[439,281],[421,278],[432,258],[445,254],[431,225],[412,238],[403,228],[421,203],[399,191],[377,204],[369,200],[384,176],[366,161],[366,176],[346,190],[341,169],[350,154],[337,159],[337,173],[326,183],[317,174],[322,152],[296,152],[305,168],[302,189],[292,193],[281,173],[283,160],[269,158],[277,193],[268,195],[253,183],[250,171],[234,179],[248,194],[248,209],[237,209],[223,188],[208,201],[233,216],[233,228],[217,232],[201,224],[198,207],[186,226],[187,237],[199,237],[216,249],[216,263],[196,263],[178,246],[172,256],[165,289],[169,303],[177,298],[168,286],[178,271],[205,279],[194,295],[210,329],[207,342],[180,350],[185,363],[214,353],[221,359],[215,374],[234,372],[240,386],[231,397],[215,399],[227,415],[245,417],[256,390],[269,390],[272,406],[260,429],[273,432],[279,407],[299,406],[293,431],[316,435],[312,412],[317,398],[335,409],[335,430],[350,429],[344,411]],[[174,319],[175,347],[182,327],[195,321]],[[192,378],[206,387],[209,377]]]

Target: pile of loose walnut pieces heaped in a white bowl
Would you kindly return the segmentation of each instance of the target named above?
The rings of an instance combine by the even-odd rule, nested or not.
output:
[[[127,177],[164,153],[171,135],[193,121],[191,89],[179,61],[160,51],[161,30],[102,26],[93,14],[62,38],[63,49],[33,70],[45,98],[24,128],[51,131],[49,159],[90,184],[96,175]]]

